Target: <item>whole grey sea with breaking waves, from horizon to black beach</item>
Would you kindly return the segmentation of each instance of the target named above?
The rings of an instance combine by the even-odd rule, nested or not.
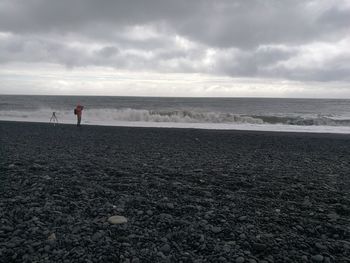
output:
[[[350,100],[0,95],[0,120],[262,131],[350,133]]]

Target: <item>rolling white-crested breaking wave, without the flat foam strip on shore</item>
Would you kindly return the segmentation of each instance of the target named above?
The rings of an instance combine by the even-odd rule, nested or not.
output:
[[[55,111],[64,123],[75,121],[73,110],[42,108],[34,111],[0,111],[1,120],[26,120],[46,122]],[[146,110],[146,109],[86,109],[83,119],[86,123],[150,122],[150,123],[211,123],[211,124],[254,124],[295,126],[350,126],[350,119],[332,116],[310,115],[245,115],[224,112],[201,112],[195,110]]]

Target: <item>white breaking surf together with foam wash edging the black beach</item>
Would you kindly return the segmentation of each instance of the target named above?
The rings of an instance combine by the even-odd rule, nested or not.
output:
[[[0,120],[49,122],[55,111],[60,123],[74,124],[73,110],[1,110]],[[224,130],[285,131],[350,133],[349,119],[327,116],[247,116],[222,112],[200,111],[151,111],[143,109],[86,109],[83,124],[132,126],[132,127],[172,127]]]

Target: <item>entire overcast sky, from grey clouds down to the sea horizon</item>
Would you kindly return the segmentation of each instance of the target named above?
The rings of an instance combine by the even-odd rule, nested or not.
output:
[[[0,94],[350,98],[350,0],[0,0]]]

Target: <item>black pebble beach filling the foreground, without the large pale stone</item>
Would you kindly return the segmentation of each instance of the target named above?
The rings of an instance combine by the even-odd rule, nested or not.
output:
[[[350,262],[349,168],[349,135],[0,122],[0,262]]]

